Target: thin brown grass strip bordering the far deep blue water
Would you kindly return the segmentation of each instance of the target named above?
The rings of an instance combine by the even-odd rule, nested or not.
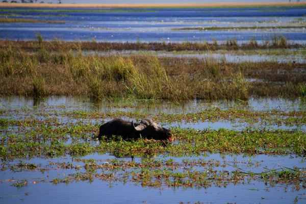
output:
[[[41,37],[41,36],[40,36]],[[41,37],[42,38],[42,37]],[[36,40],[30,41],[12,41],[0,40],[0,48],[16,47],[26,49],[28,51],[37,51],[41,48],[41,44]],[[305,47],[300,44],[290,44],[282,35],[274,35],[270,40],[257,41],[251,39],[246,43],[238,44],[237,39],[227,39],[225,42],[183,42],[183,43],[167,43],[163,42],[96,42],[79,41],[67,42],[61,40],[44,41],[43,48],[47,50],[165,50],[165,51],[208,51],[224,49],[224,50],[250,50],[250,49],[275,49],[275,48],[301,48]]]

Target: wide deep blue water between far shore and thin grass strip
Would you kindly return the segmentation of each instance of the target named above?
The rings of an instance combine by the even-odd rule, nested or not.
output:
[[[59,9],[48,9],[50,11]],[[14,13],[21,16],[10,18],[31,18],[41,20],[62,20],[63,24],[50,23],[1,23],[0,38],[12,40],[35,39],[35,32],[40,32],[44,39],[54,38],[65,41],[92,40],[110,42],[183,42],[203,40],[219,42],[235,38],[245,42],[252,38],[269,40],[275,33],[284,35],[293,43],[306,43],[305,27],[295,29],[248,29],[175,31],[177,28],[190,27],[239,27],[301,25],[306,17],[305,8],[239,8],[239,9],[131,9],[146,12],[27,12],[20,9],[1,10],[0,14]],[[75,10],[75,9],[73,9]],[[89,9],[86,9],[89,10]],[[101,9],[105,10],[105,9]],[[121,9],[120,9],[121,10]],[[67,16],[56,16],[64,14]],[[55,16],[48,16],[55,15]],[[302,24],[303,25],[303,24]]]

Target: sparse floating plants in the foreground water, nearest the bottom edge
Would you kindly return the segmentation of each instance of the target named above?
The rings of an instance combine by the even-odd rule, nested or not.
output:
[[[72,160],[73,161],[73,160]],[[50,178],[53,184],[66,183],[73,181],[89,181],[95,179],[108,182],[132,182],[136,185],[147,187],[226,187],[229,184],[243,184],[246,181],[260,181],[266,184],[275,183],[284,185],[305,184],[304,168],[266,169],[263,172],[243,171],[235,167],[236,163],[247,164],[249,168],[255,168],[260,165],[258,162],[241,161],[219,161],[215,159],[183,159],[174,161],[173,159],[155,159],[140,160],[139,162],[127,161],[121,159],[75,159],[74,162],[49,162],[46,166],[36,166],[35,170],[52,171],[52,169],[65,170],[71,169],[74,172],[64,177]],[[23,163],[24,166],[31,164]],[[18,164],[5,163],[4,168],[14,169]],[[233,170],[224,170],[219,167],[234,167]],[[14,180],[9,182],[15,182]],[[21,185],[24,180],[17,181]]]

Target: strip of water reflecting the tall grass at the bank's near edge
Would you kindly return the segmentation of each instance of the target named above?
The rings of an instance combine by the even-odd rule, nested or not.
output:
[[[0,98],[0,108],[16,109],[54,109],[54,110],[84,110],[84,111],[130,111],[148,114],[177,114],[194,113],[206,109],[220,108],[226,109],[245,109],[254,111],[282,110],[282,111],[303,111],[306,110],[306,103],[300,98],[270,98],[270,97],[251,97],[247,101],[241,100],[215,100],[207,101],[193,99],[188,101],[151,101],[139,100],[134,98],[114,98],[104,100],[90,100],[84,97],[71,96],[49,96],[45,98],[31,98],[22,96],[4,96]]]

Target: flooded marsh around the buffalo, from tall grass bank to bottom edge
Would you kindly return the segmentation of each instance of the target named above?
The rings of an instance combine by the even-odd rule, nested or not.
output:
[[[284,202],[304,199],[306,107],[300,99],[173,104],[124,98],[97,103],[86,98],[2,97],[1,105],[3,201],[35,202],[35,196],[44,194],[37,188],[66,186],[66,192],[67,188],[81,188],[80,184],[111,194],[113,189],[123,193],[133,186],[127,202],[160,202],[149,196],[157,192],[173,203],[196,202],[190,193],[213,196],[225,188],[243,189],[235,192],[240,202],[254,192],[258,202],[270,202],[279,193],[286,193]],[[98,141],[99,125],[114,117],[154,118],[171,129],[174,141]],[[238,125],[227,129],[220,121]],[[247,125],[240,127],[243,123]],[[186,124],[191,126],[184,127]],[[271,129],[274,124],[278,127]],[[7,194],[8,190],[15,196]],[[136,199],[134,190],[149,194]],[[182,190],[187,197],[176,194]],[[94,194],[88,194],[94,201]],[[220,202],[232,199],[237,201],[224,194]]]

